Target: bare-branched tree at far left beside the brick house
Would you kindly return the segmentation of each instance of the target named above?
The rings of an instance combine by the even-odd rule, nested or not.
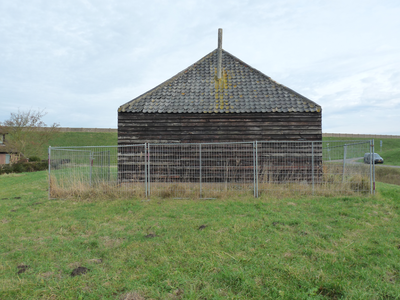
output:
[[[47,127],[42,118],[44,110],[20,111],[11,113],[10,119],[0,123],[1,131],[8,133],[5,141],[6,151],[26,158],[40,156],[49,140],[59,132],[59,124]]]

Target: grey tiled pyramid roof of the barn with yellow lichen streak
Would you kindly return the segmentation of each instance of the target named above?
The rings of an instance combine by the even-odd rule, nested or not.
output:
[[[121,105],[132,113],[320,112],[321,106],[217,49],[147,93]]]

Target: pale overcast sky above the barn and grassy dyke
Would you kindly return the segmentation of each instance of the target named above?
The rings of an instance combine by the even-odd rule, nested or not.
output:
[[[120,105],[217,47],[322,106],[325,133],[400,134],[398,0],[0,0],[0,122],[117,128]]]

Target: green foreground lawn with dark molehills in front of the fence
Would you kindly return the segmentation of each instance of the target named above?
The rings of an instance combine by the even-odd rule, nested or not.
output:
[[[2,175],[0,299],[399,299],[400,187],[377,188],[63,201],[45,172]]]

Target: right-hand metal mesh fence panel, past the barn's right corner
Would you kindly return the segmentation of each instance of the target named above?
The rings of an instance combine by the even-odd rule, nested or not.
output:
[[[257,142],[258,192],[368,193],[369,141]]]

